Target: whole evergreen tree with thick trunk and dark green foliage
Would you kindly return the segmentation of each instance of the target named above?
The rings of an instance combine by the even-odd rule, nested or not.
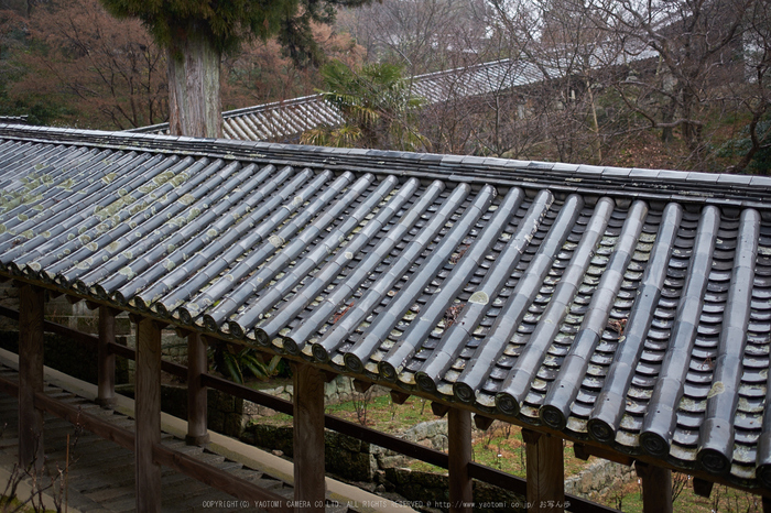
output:
[[[369,0],[100,0],[116,17],[139,18],[167,53],[171,133],[221,135],[222,54],[243,40],[278,35],[296,64],[323,56],[311,23],[332,23],[335,6]]]

